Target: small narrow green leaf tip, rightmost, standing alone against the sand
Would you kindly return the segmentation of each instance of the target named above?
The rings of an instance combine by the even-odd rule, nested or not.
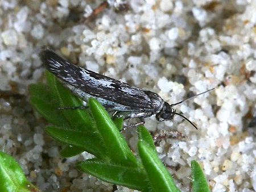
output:
[[[194,192],[210,192],[203,170],[195,160],[191,161],[192,189]]]

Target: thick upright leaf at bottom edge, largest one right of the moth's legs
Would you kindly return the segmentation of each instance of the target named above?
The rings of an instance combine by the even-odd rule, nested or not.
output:
[[[180,191],[155,151],[145,141],[138,141],[138,150],[154,191]]]

